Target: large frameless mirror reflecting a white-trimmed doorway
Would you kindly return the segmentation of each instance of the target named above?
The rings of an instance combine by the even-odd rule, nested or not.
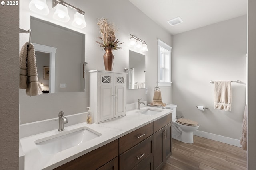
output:
[[[34,17],[30,29],[43,92],[84,91],[85,35]]]

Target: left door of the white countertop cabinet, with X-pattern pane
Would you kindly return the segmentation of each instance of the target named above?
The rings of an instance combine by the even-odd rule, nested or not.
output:
[[[99,72],[98,77],[98,122],[101,122],[114,117],[114,83],[112,73]]]

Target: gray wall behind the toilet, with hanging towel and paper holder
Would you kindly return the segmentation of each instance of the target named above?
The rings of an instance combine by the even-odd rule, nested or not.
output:
[[[246,85],[232,83],[232,111],[213,107],[210,80],[246,82],[246,15],[172,37],[173,104],[199,131],[240,139]],[[196,106],[208,106],[199,111]]]

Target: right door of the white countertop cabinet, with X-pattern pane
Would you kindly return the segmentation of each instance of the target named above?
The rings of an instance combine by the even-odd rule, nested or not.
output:
[[[114,74],[114,117],[126,114],[126,74]]]

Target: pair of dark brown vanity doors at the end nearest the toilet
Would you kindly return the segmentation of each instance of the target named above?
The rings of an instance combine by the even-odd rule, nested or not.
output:
[[[154,170],[160,170],[172,155],[172,123],[154,133]]]

